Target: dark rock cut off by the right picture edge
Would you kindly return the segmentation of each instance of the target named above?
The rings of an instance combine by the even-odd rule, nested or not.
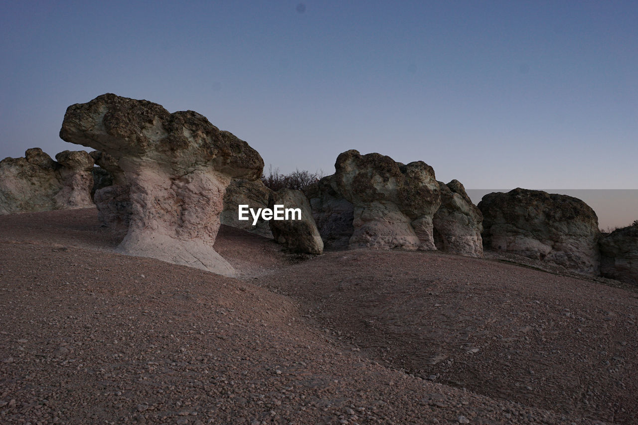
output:
[[[638,285],[638,226],[614,230],[600,238],[600,274]]]

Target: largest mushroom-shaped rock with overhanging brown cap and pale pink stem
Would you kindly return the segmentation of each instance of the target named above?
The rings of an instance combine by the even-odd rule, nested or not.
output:
[[[234,177],[262,174],[262,158],[246,142],[197,112],[170,114],[157,103],[115,94],[68,107],[60,137],[112,156],[122,184],[130,185],[120,252],[234,274],[213,244],[226,186]]]

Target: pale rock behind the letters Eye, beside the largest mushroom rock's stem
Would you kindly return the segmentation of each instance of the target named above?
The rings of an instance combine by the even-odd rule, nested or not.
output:
[[[263,237],[272,238],[271,227],[267,220],[261,217],[253,226],[253,219],[238,220],[238,206],[248,205],[249,208],[267,208],[272,190],[264,186],[261,180],[232,179],[224,195],[224,211],[221,212],[221,224],[241,228]]]

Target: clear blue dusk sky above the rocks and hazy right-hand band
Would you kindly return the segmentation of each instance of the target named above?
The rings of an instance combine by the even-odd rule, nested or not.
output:
[[[196,110],[266,163],[347,149],[466,188],[638,188],[638,1],[3,1],[0,158],[103,93]]]

